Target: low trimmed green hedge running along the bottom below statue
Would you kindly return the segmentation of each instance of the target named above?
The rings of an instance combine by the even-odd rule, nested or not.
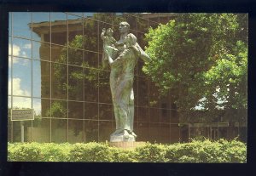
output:
[[[246,144],[231,140],[193,140],[160,145],[146,143],[134,150],[108,144],[9,143],[9,162],[246,162]]]

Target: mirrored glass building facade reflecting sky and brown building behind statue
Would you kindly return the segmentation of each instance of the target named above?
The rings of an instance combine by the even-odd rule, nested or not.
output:
[[[102,67],[103,28],[113,28],[119,39],[119,22],[127,21],[142,48],[149,27],[166,24],[177,14],[127,13],[10,13],[9,110],[29,108],[35,119],[10,120],[9,142],[77,143],[106,141],[115,128],[109,88],[109,67]],[[172,102],[172,92],[160,96],[154,82],[135,71],[134,131],[137,141],[174,143],[191,137],[246,139],[242,122],[183,121]],[[194,116],[199,115],[201,112]],[[186,116],[189,119],[189,116]],[[217,120],[216,120],[217,119]],[[22,131],[23,130],[23,131]]]

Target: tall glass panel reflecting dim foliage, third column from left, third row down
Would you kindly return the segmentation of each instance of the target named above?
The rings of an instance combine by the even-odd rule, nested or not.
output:
[[[67,99],[67,65],[52,64],[51,96],[54,99]]]

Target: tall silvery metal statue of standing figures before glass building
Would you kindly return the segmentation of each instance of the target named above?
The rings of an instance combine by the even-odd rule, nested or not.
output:
[[[133,132],[134,121],[134,69],[138,58],[149,60],[148,54],[137,43],[137,37],[129,33],[127,22],[119,24],[120,39],[115,43],[117,58],[110,50],[105,49],[108,63],[111,67],[110,89],[113,99],[113,111],[116,130],[110,136],[110,141],[135,141],[137,135]]]

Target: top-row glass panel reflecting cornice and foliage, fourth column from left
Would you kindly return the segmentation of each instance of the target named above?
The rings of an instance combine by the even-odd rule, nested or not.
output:
[[[79,37],[83,37],[83,20],[80,16],[71,14],[67,14],[67,19],[69,46],[73,48],[83,48],[83,43],[76,43],[76,41],[79,41]]]

